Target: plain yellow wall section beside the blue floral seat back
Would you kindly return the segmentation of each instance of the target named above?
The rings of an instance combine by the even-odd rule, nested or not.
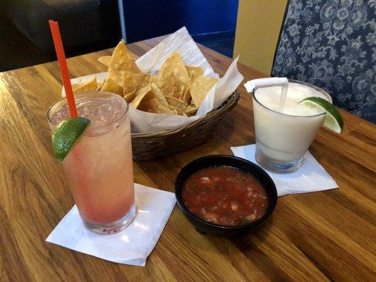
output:
[[[287,0],[239,0],[234,58],[262,73],[272,72]]]

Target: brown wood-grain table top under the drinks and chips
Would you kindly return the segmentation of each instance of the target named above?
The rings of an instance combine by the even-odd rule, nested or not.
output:
[[[140,56],[161,38],[128,45]],[[220,75],[231,59],[201,47]],[[106,71],[99,51],[68,59],[72,78]],[[241,65],[245,80],[265,75]],[[181,167],[255,142],[250,96],[214,137],[188,152],[136,161],[135,181],[174,190]],[[45,242],[73,206],[51,153],[48,107],[59,99],[56,62],[0,73],[1,281],[375,281],[376,127],[342,111],[344,133],[321,129],[310,152],[339,189],[280,197],[265,226],[239,238],[201,235],[178,207],[145,267],[107,262]]]

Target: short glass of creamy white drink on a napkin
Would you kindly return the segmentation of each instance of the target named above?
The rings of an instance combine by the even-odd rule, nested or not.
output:
[[[256,88],[253,91],[253,115],[257,162],[269,171],[296,171],[317,131],[324,123],[325,112],[299,104],[307,97],[332,98],[324,90],[297,80],[289,80],[284,106],[281,86]]]

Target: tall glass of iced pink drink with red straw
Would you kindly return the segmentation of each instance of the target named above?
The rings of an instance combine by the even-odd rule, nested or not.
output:
[[[63,160],[68,185],[84,225],[95,233],[116,233],[135,217],[128,104],[117,94],[75,95],[78,116],[90,125]],[[51,131],[69,117],[66,99],[47,113]]]

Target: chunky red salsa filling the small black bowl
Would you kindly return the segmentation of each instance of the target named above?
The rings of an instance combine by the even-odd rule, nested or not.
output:
[[[183,184],[183,203],[205,221],[247,224],[265,215],[267,194],[250,173],[229,166],[203,168]]]

